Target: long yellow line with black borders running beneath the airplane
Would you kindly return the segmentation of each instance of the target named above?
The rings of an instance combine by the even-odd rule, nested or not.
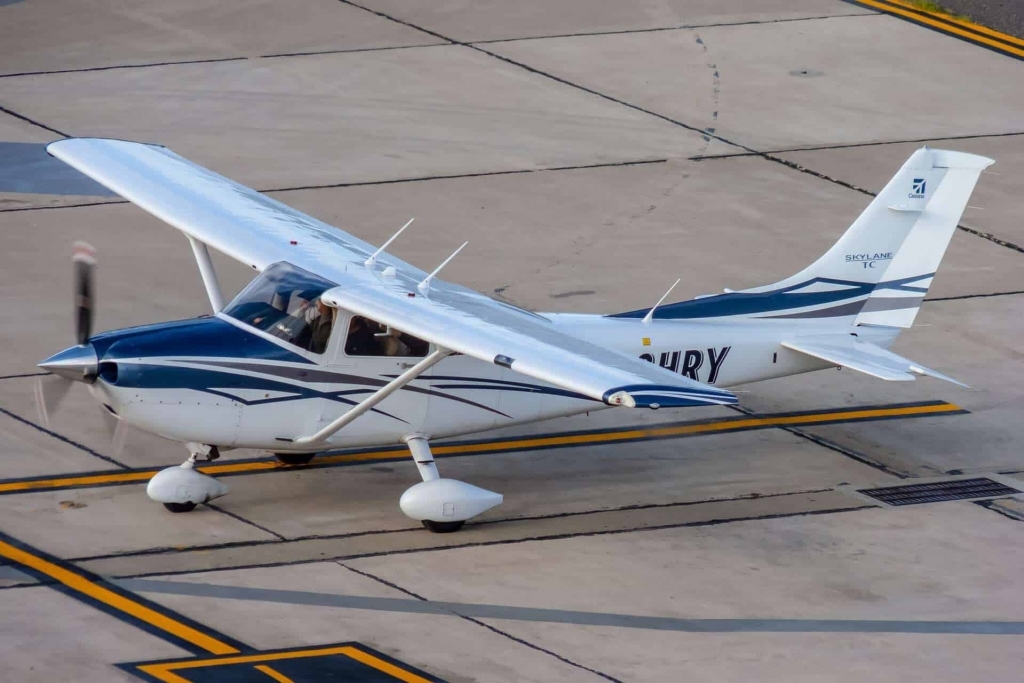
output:
[[[952,413],[963,410],[953,403],[936,403],[935,405],[911,405],[904,408],[877,408],[863,411],[830,411],[828,413],[817,413],[810,415],[796,415],[787,417],[766,416],[762,418],[750,418],[746,420],[719,420],[716,422],[706,422],[702,424],[675,425],[671,427],[654,427],[646,429],[627,429],[623,431],[564,434],[559,436],[536,436],[519,439],[500,439],[484,443],[463,443],[453,445],[433,446],[434,455],[461,455],[467,453],[490,453],[495,451],[515,451],[528,450],[557,445],[587,445],[607,443],[610,441],[635,441],[645,438],[666,438],[671,436],[686,436],[689,434],[701,434],[707,432],[731,432],[743,431],[745,429],[757,429],[760,427],[783,427],[814,425],[820,422],[870,420],[873,418],[894,418],[911,417],[920,415],[933,415]],[[409,454],[406,449],[385,449],[382,451],[371,451],[368,453],[348,453],[335,456],[319,456],[314,462],[319,465],[334,465],[344,463],[368,463],[380,460],[391,460],[401,458]],[[206,465],[197,468],[199,471],[210,475],[217,474],[254,474],[258,472],[268,472],[274,470],[290,470],[291,467],[282,465],[275,461],[261,461],[248,463],[224,463],[222,465]],[[54,479],[38,479],[35,481],[8,481],[0,483],[0,494],[14,492],[46,490],[48,488],[59,488],[62,486],[98,486],[113,483],[134,483],[147,481],[159,469],[134,470],[131,472],[114,472],[111,474],[86,474],[69,475]]]

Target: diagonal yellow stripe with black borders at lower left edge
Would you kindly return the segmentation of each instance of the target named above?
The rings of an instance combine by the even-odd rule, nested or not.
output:
[[[102,602],[118,611],[130,614],[139,621],[145,622],[154,628],[176,636],[177,638],[189,642],[197,647],[202,647],[207,652],[211,652],[213,654],[230,654],[239,651],[238,648],[231,647],[226,643],[222,643],[216,638],[208,636],[201,631],[197,631],[190,626],[162,614],[155,609],[141,605],[134,600],[124,597],[123,595],[119,595],[110,589],[98,586],[81,574],[71,571],[70,569],[66,569],[54,564],[53,562],[44,560],[41,557],[37,557],[32,553],[26,552],[20,548],[16,548],[8,543],[4,543],[3,541],[0,541],[0,556],[6,557],[12,562],[35,569],[36,571],[42,572],[50,579],[63,584],[73,591],[86,595],[94,600],[98,600],[99,602]]]

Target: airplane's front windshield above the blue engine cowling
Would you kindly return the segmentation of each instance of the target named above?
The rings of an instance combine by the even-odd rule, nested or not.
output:
[[[323,353],[334,327],[335,311],[321,295],[335,284],[290,263],[274,263],[224,308],[246,325]]]

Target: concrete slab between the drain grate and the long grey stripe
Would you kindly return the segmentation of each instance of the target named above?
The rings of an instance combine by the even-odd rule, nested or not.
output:
[[[347,563],[431,600],[693,618],[1017,621],[1022,535],[974,504],[944,503]]]

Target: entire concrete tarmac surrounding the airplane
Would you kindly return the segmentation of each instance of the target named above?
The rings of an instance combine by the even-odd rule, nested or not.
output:
[[[1024,490],[1022,70],[838,0],[0,2],[2,678],[1014,679],[1024,496],[857,492]],[[37,417],[35,364],[71,343],[75,240],[100,255],[97,329],[208,309],[180,234],[39,163],[65,135],[166,144],[376,244],[415,216],[397,256],[427,267],[468,240],[446,279],[578,312],[676,278],[678,299],[776,282],[920,145],[983,154],[895,348],[971,388],[828,371],[738,387],[774,420],[758,428],[709,408],[480,435],[504,445],[438,465],[505,503],[449,536],[400,513],[418,477],[387,453],[231,452],[230,494],[172,515],[144,473],[180,444],[131,431],[116,451],[84,391]],[[215,263],[226,293],[252,276]],[[700,421],[721,428],[684,433]]]

